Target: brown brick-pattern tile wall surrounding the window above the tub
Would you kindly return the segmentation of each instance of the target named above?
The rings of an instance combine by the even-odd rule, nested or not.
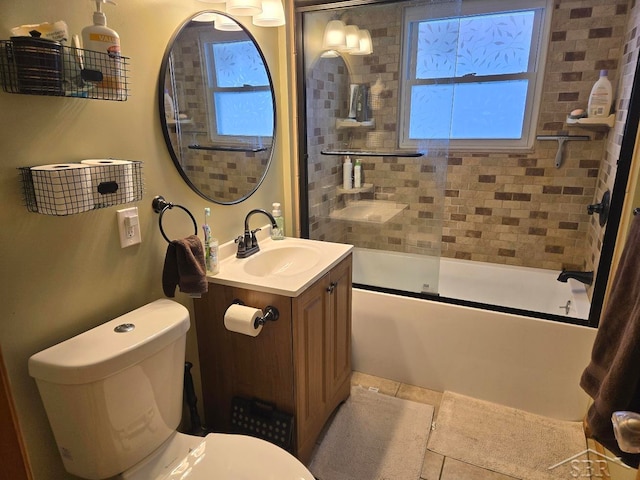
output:
[[[492,263],[555,270],[590,268],[599,249],[598,242],[590,239],[601,238],[601,229],[587,214],[587,205],[599,200],[599,184],[607,183],[600,178],[603,170],[612,169],[610,144],[616,129],[568,127],[565,119],[571,110],[586,108],[600,69],[609,70],[612,84],[618,82],[624,42],[635,26],[628,26],[628,10],[626,0],[557,1],[554,5],[537,134],[591,138],[567,142],[560,169],[555,168],[555,141],[536,141],[532,151],[517,153],[451,150],[447,158],[433,153],[420,160],[365,157],[365,181],[376,188],[371,196],[408,208],[388,224],[345,225],[347,241],[396,251],[441,249],[443,256]],[[374,46],[370,56],[345,57],[349,81],[373,85],[380,79],[385,86],[382,106],[373,111],[375,127],[349,129],[347,146],[367,148],[373,133],[383,148],[395,149],[402,8],[375,5],[340,12],[346,23],[368,28]],[[635,56],[627,57],[635,62]],[[313,137],[313,132],[307,132]],[[328,158],[332,157],[321,161]],[[319,172],[332,169],[337,183],[341,182],[339,159],[332,158],[327,165],[314,165],[314,174],[328,177]],[[340,206],[342,199],[328,198]],[[324,208],[328,213],[333,206],[327,202]]]

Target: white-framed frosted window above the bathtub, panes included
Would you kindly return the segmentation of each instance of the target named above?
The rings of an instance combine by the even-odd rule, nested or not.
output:
[[[546,0],[462,0],[455,14],[407,8],[400,146],[530,147],[548,14]]]

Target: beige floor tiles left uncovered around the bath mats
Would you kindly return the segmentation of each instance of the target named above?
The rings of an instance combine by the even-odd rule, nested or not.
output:
[[[435,407],[434,420],[438,416],[442,392],[426,390],[424,388],[407,385],[385,378],[353,372],[352,385],[375,387],[380,393],[392,395],[405,400],[427,403]],[[450,457],[444,457],[427,450],[422,464],[421,480],[526,480],[516,479],[509,475],[486,470],[468,463],[460,462]],[[607,477],[610,480],[610,477]]]

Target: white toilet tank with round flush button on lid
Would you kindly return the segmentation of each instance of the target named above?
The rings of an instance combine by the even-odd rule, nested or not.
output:
[[[104,479],[178,427],[188,310],[162,299],[29,359],[64,466]]]

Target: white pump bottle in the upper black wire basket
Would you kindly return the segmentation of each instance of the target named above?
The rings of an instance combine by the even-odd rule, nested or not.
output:
[[[107,17],[102,12],[103,3],[115,5],[113,0],[91,0],[96,4],[93,25],[82,29],[82,48],[85,69],[102,73],[96,83],[98,95],[107,100],[126,100],[126,89],[122,78],[120,58],[120,36],[107,27]],[[97,52],[97,53],[95,53]]]

